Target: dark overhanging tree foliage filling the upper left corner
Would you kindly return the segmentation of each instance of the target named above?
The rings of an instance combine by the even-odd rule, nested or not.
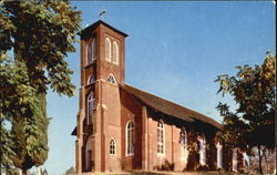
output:
[[[25,63],[32,86],[44,92],[47,85],[60,94],[73,95],[68,52],[80,29],[80,12],[66,1],[4,1],[0,9],[0,49],[13,50],[14,59]]]

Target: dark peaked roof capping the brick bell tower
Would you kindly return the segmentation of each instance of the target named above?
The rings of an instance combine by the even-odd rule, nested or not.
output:
[[[99,21],[94,22],[93,24],[91,24],[91,25],[84,28],[84,29],[81,30],[78,34],[80,34],[81,37],[85,37],[85,35],[88,35],[88,34],[92,33],[92,31],[93,31],[94,29],[96,29],[100,24],[105,25],[106,28],[109,28],[109,29],[111,29],[111,30],[113,30],[113,31],[115,31],[115,32],[122,34],[123,37],[127,37],[126,33],[124,33],[124,32],[122,32],[122,31],[120,31],[120,30],[113,28],[112,25],[105,23],[105,22],[102,21],[102,20],[99,20]]]

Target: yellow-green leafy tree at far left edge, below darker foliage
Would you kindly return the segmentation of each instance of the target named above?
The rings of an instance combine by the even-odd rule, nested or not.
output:
[[[13,167],[12,157],[17,156],[14,148],[18,145],[14,134],[7,125],[21,117],[41,115],[41,112],[37,105],[35,90],[30,85],[24,63],[14,63],[8,55],[1,55],[0,59],[1,169],[6,168],[11,173]]]

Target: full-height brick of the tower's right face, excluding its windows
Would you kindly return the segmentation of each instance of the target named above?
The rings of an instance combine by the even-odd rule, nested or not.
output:
[[[109,37],[111,44],[116,41],[120,48],[119,64],[113,64],[105,60],[105,38]],[[122,159],[122,133],[121,133],[121,106],[120,106],[120,92],[119,83],[124,82],[124,37],[114,32],[113,30],[100,24],[99,27],[99,59],[96,61],[96,79],[102,82],[102,92],[96,94],[100,101],[103,115],[103,147],[104,155],[102,156],[101,164],[104,171],[121,171]],[[113,47],[112,47],[113,49]],[[107,82],[107,76],[113,74],[116,84]],[[114,138],[116,142],[116,155],[110,155],[110,141]]]

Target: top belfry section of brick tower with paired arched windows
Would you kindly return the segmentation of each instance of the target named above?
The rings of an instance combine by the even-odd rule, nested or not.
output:
[[[124,39],[127,34],[99,20],[80,32],[81,65],[85,68],[82,85],[88,82],[88,73],[95,79],[107,80],[112,74],[116,82],[124,82]],[[92,69],[90,68],[92,66]]]

